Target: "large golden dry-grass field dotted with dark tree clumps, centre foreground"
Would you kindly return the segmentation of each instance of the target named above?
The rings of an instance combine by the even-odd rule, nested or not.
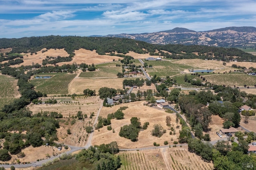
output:
[[[174,141],[178,141],[179,130],[176,130],[175,135],[170,135],[169,128],[166,126],[165,120],[166,116],[169,115],[172,118],[172,123],[174,123],[174,127],[176,127],[175,114],[166,113],[164,109],[157,109],[154,107],[148,107],[144,105],[145,101],[137,101],[133,103],[125,103],[122,105],[116,105],[113,107],[103,107],[100,116],[107,117],[108,114],[114,113],[120,107],[127,106],[128,109],[124,110],[124,119],[122,120],[111,120],[112,129],[114,129],[114,133],[112,130],[107,130],[107,127],[100,128],[100,130],[94,131],[94,136],[92,138],[93,145],[99,145],[102,143],[108,144],[112,141],[116,141],[120,148],[141,148],[141,147],[152,147],[154,142],[160,144],[160,146],[164,145],[164,141],[168,141],[169,144],[173,144]],[[123,138],[119,136],[120,127],[124,125],[130,124],[130,119],[132,117],[140,118],[140,122],[143,125],[145,122],[149,122],[149,126],[146,130],[142,130],[139,132],[138,141],[132,142],[129,139]],[[166,133],[164,133],[160,138],[152,136],[151,131],[153,129],[154,124],[160,124],[164,129],[166,129]],[[173,138],[173,141],[171,140]]]

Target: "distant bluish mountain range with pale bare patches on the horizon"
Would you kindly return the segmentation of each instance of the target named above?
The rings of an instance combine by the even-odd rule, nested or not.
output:
[[[154,44],[171,43],[220,47],[256,46],[255,27],[226,27],[203,32],[196,32],[186,28],[174,28],[152,33],[116,34],[100,37],[130,38]]]

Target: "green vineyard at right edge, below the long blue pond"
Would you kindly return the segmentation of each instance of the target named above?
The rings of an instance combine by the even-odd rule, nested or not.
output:
[[[204,75],[208,82],[216,85],[236,86],[254,86],[256,84],[256,76],[245,74],[212,74]]]

